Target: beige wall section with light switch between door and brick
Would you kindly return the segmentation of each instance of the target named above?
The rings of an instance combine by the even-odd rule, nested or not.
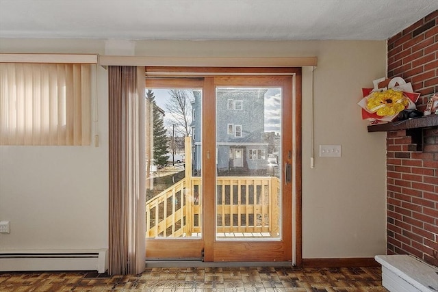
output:
[[[368,133],[357,101],[384,77],[385,42],[324,42],[314,71],[315,168],[310,168],[311,103],[303,85],[302,241],[304,258],[386,252],[385,133]],[[310,70],[307,70],[310,71]],[[305,75],[311,75],[306,72]],[[320,144],[342,157],[318,157]]]

